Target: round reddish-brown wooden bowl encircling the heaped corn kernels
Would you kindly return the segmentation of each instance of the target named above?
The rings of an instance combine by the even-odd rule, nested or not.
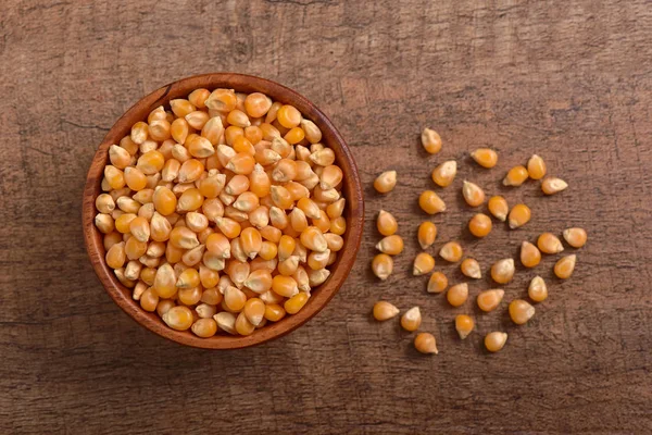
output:
[[[210,90],[229,88],[241,92],[259,91],[266,94],[275,101],[294,105],[305,117],[312,120],[322,129],[322,141],[335,151],[337,164],[342,169],[344,174],[343,195],[347,199],[344,208],[347,232],[343,235],[344,246],[339,251],[335,264],[330,266],[330,276],[324,284],[313,289],[312,297],[299,313],[287,315],[277,323],[268,323],[250,336],[217,334],[211,338],[199,338],[190,331],[174,331],[167,327],[156,313],[149,313],[142,310],[140,304],[131,299],[131,290],[124,287],[115,277],[113,271],[106,265],[102,234],[96,228],[93,223],[97,213],[95,200],[100,194],[100,183],[103,177],[104,165],[109,160],[109,147],[112,144],[118,144],[120,139],[130,132],[134,123],[147,120],[148,114],[154,108],[167,104],[170,100],[175,98],[187,98],[188,94],[198,88],[208,88]],[[84,238],[90,262],[104,289],[115,303],[141,326],[153,333],[183,345],[206,349],[235,349],[259,345],[288,334],[319,312],[339,290],[353,266],[362,238],[363,215],[362,187],[353,156],[347,142],[328,117],[308,99],[285,86],[260,77],[230,73],[204,74],[174,82],[148,95],[129,109],[109,130],[92,159],[86,178],[82,207]]]

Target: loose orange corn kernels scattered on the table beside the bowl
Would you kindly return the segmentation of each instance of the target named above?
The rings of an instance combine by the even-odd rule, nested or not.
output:
[[[436,154],[441,150],[441,138],[437,132],[425,128],[422,133],[422,145],[430,154]],[[471,157],[482,167],[491,169],[498,164],[498,153],[489,148],[480,148],[471,153]],[[432,182],[446,188],[453,183],[457,173],[457,163],[450,160],[441,163],[432,171]],[[504,186],[518,187],[528,178],[541,181],[541,190],[546,195],[557,194],[568,187],[561,178],[546,176],[547,166],[543,159],[539,156],[532,156],[527,166],[518,165],[512,167],[503,178]],[[380,194],[390,192],[397,185],[396,171],[384,172],[374,182],[375,189]],[[477,208],[485,203],[486,196],[482,188],[478,185],[464,181],[462,185],[462,196],[465,202]],[[429,215],[446,211],[446,203],[434,191],[426,190],[418,197],[421,209]],[[487,201],[489,213],[501,222],[507,222],[510,228],[518,228],[530,220],[531,210],[524,203],[517,203],[510,210],[507,201],[502,196],[492,196]],[[380,210],[376,220],[376,226],[384,238],[376,245],[381,252],[374,257],[372,270],[374,274],[385,281],[393,271],[392,256],[398,256],[403,251],[403,239],[397,233],[397,220],[386,210]],[[491,217],[485,213],[475,214],[468,222],[468,231],[477,238],[489,235],[492,228]],[[582,228],[567,228],[563,233],[563,238],[573,248],[581,248],[587,241],[587,233]],[[417,239],[423,252],[414,259],[413,274],[424,275],[432,272],[435,269],[435,258],[426,250],[430,248],[437,238],[437,226],[429,221],[423,222],[417,231]],[[524,240],[521,246],[521,263],[525,268],[535,268],[541,261],[541,252],[547,254],[556,254],[564,250],[560,238],[552,233],[543,233],[537,239],[537,245]],[[449,241],[439,249],[439,257],[450,263],[457,263],[464,258],[464,249],[457,241]],[[575,269],[577,257],[575,254],[565,256],[554,265],[554,274],[562,279],[570,277]],[[462,273],[474,279],[482,276],[481,266],[473,258],[464,258],[460,263]],[[515,273],[514,259],[505,258],[497,261],[490,268],[491,278],[499,285],[506,285],[512,281]],[[451,307],[462,307],[468,299],[468,284],[455,283],[449,287],[448,277],[442,272],[434,272],[427,284],[427,291],[431,294],[441,294],[446,291],[446,298]],[[505,295],[502,288],[491,288],[482,290],[477,295],[476,302],[482,312],[491,312],[498,309]],[[548,287],[541,276],[535,276],[528,287],[528,297],[532,302],[542,302],[548,298]],[[507,311],[512,321],[517,325],[527,323],[535,315],[535,307],[526,300],[514,299],[507,306]],[[400,310],[392,303],[380,300],[374,304],[373,315],[377,321],[393,319],[400,314]],[[409,332],[417,331],[422,324],[422,313],[419,307],[413,307],[405,311],[400,320],[401,326]],[[454,326],[461,339],[466,338],[475,328],[475,321],[468,314],[459,314],[455,316]],[[507,340],[507,334],[501,331],[494,331],[485,336],[485,347],[490,352],[501,350]],[[414,347],[422,353],[438,353],[435,336],[427,332],[418,333],[414,338]]]

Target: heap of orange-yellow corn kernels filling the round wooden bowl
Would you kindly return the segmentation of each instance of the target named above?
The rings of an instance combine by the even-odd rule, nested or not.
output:
[[[292,105],[196,89],[109,148],[95,224],[133,298],[177,331],[296,314],[343,247],[342,170]]]

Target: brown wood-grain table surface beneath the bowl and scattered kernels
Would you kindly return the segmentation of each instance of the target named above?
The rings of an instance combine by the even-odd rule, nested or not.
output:
[[[650,433],[652,432],[652,10],[645,1],[61,1],[0,5],[0,433]],[[305,326],[258,348],[168,343],[112,302],[88,262],[80,203],[97,145],[142,95],[213,71],[278,80],[348,139],[366,186],[365,237],[347,284]],[[432,126],[435,157],[418,145]],[[498,167],[468,158],[500,152]],[[570,187],[499,181],[532,153]],[[416,207],[429,173],[456,159],[449,211],[432,219],[485,266],[543,231],[584,226],[574,276],[554,257],[518,269],[550,298],[525,326],[469,299],[447,307],[412,277]],[[385,197],[371,183],[399,173]],[[460,185],[532,208],[527,226],[477,241]],[[386,283],[369,262],[380,208],[406,248]],[[455,265],[437,268],[460,282]],[[471,283],[472,298],[491,284]],[[418,304],[440,352],[378,324],[378,299]],[[503,307],[504,308],[504,307]],[[455,314],[477,319],[461,341]],[[488,355],[481,337],[510,334]]]

